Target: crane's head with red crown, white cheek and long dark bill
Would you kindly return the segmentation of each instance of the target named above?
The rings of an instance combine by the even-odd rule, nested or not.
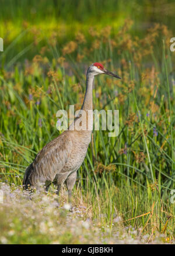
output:
[[[118,75],[115,75],[113,72],[106,70],[106,68],[104,68],[103,65],[98,62],[90,65],[90,67],[88,68],[88,74],[90,75],[106,74],[106,75],[111,75],[111,77],[116,77],[118,79],[121,79],[120,77],[118,77]]]

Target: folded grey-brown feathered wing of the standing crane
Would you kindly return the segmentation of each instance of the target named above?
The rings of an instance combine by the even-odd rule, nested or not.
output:
[[[65,132],[50,141],[26,169],[23,185],[36,185],[38,181],[53,181],[55,175],[69,160],[71,149],[72,140]]]

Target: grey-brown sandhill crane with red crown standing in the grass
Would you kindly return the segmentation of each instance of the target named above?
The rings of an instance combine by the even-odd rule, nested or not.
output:
[[[71,202],[71,193],[76,181],[76,171],[81,167],[91,140],[93,114],[89,117],[88,110],[93,109],[93,79],[95,75],[99,74],[111,75],[121,79],[118,75],[106,70],[100,63],[93,63],[88,68],[86,93],[81,110],[86,113],[85,122],[90,123],[91,129],[72,130],[72,124],[76,124],[79,119],[79,117],[76,117],[68,130],[65,130],[60,136],[46,144],[36,155],[34,161],[26,168],[23,178],[25,189],[29,188],[29,186],[37,188],[37,184],[40,183],[45,184],[48,190],[50,184],[54,182],[57,184],[57,195],[59,195],[61,185],[66,182],[68,198],[69,202]]]

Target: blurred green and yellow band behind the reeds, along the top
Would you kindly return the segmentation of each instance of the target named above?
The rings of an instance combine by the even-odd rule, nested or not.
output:
[[[53,31],[58,33],[58,51],[67,41],[74,40],[79,30],[89,36],[89,27],[98,30],[109,25],[111,35],[115,35],[128,18],[134,21],[131,30],[134,36],[143,37],[154,23],[164,24],[175,32],[174,12],[173,0],[1,0],[0,37],[5,51],[1,63],[14,56],[17,56],[15,61],[33,58]]]

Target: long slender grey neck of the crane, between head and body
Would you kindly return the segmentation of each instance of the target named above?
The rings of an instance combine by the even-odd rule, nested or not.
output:
[[[94,75],[87,72],[86,75],[86,93],[83,101],[82,108],[83,110],[92,110],[93,109],[93,97],[92,97],[92,89],[93,89],[93,79]]]

